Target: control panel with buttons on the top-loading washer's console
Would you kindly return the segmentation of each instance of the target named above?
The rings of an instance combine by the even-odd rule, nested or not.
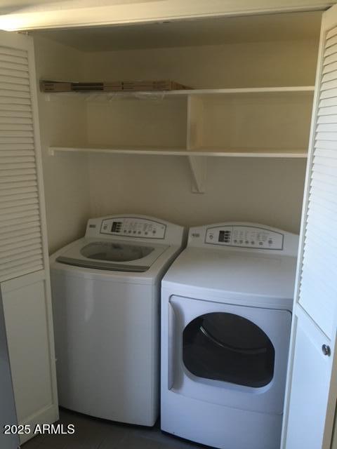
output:
[[[139,217],[114,217],[102,221],[100,234],[139,237],[142,239],[164,239],[166,225]]]

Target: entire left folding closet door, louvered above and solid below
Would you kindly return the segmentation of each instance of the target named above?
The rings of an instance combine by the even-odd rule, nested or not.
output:
[[[0,32],[0,294],[18,424],[34,430],[58,419],[37,80],[32,38],[6,32]],[[32,436],[22,433],[20,442]]]

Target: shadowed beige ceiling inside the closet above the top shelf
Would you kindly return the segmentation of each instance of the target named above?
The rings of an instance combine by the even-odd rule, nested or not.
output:
[[[80,51],[318,39],[322,13],[283,13],[32,32]]]

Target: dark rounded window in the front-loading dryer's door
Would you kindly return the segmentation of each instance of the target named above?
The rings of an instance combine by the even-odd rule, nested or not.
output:
[[[183,331],[183,363],[193,375],[246,387],[263,387],[274,375],[275,349],[256,324],[214,312]]]

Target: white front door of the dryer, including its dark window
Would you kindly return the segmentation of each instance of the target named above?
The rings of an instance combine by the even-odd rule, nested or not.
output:
[[[282,413],[291,313],[173,296],[171,389],[221,405]]]

